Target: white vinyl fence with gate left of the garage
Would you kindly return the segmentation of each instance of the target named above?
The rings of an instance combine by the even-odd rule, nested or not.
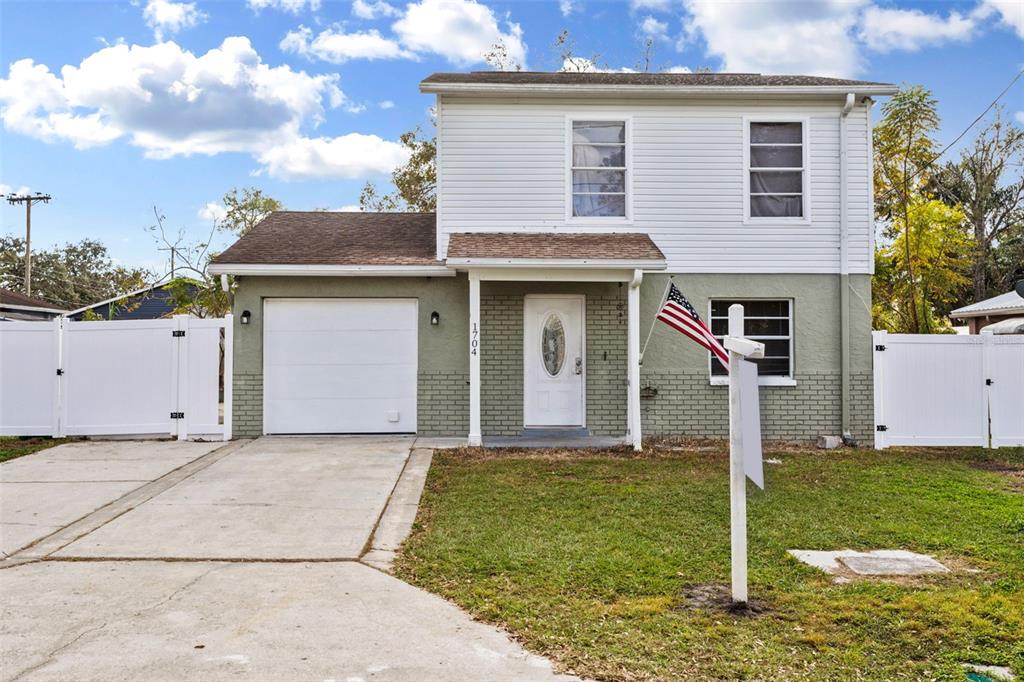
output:
[[[231,345],[230,315],[4,323],[0,435],[229,439]]]

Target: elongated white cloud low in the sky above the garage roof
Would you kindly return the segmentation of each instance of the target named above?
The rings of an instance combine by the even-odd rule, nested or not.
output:
[[[357,178],[390,172],[408,159],[409,151],[401,144],[360,133],[296,138],[259,157],[269,175],[289,179]]]

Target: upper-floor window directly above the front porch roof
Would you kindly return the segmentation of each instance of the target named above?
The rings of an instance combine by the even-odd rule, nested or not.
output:
[[[572,121],[572,216],[625,218],[626,121]]]

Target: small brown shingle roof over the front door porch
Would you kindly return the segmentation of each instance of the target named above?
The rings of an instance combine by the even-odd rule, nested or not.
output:
[[[456,232],[449,258],[540,258],[569,260],[664,260],[649,237],[639,232]]]

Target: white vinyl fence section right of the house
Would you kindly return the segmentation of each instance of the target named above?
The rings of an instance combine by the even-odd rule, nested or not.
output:
[[[1024,336],[874,332],[874,445],[1024,445]]]

